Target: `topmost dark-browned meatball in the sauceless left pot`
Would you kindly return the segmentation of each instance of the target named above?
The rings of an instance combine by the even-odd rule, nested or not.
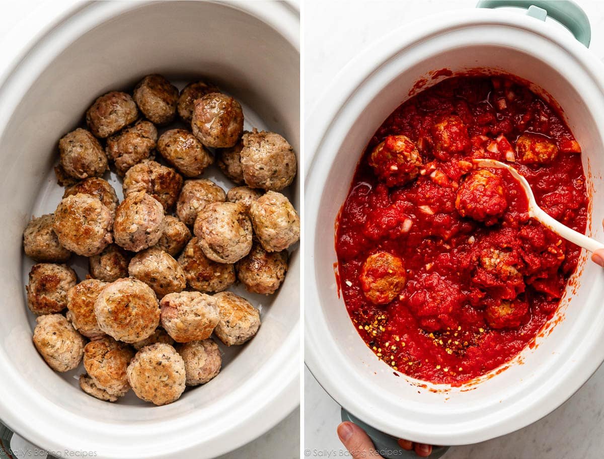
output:
[[[147,75],[134,88],[134,100],[149,121],[166,124],[176,115],[178,89],[161,75]]]

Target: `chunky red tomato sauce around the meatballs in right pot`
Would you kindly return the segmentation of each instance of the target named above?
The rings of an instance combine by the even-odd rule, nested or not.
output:
[[[434,126],[451,115],[463,121],[467,138],[456,126],[455,151],[443,154]],[[469,161],[517,160],[516,141],[526,133],[555,143],[559,154],[546,164],[512,164],[548,214],[584,233],[589,199],[580,147],[544,100],[512,80],[444,80],[397,108],[368,144],[338,217],[336,251],[350,318],[393,370],[460,385],[518,355],[559,307],[580,249],[528,218],[526,197],[509,173],[490,170],[503,181],[503,215],[477,221],[455,207]],[[390,135],[410,138],[421,156],[419,175],[406,184],[387,183],[370,165],[371,151]],[[486,201],[478,204],[495,202]],[[359,278],[376,252],[405,265],[406,283],[387,304],[368,300]],[[503,262],[490,260],[501,253]],[[493,319],[493,310],[509,304],[512,314]]]

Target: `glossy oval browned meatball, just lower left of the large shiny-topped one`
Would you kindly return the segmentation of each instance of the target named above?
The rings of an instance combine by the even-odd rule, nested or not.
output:
[[[184,129],[170,129],[157,141],[158,152],[185,177],[196,177],[214,162],[210,152]]]

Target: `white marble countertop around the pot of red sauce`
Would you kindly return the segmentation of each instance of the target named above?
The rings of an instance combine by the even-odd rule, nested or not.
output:
[[[590,50],[604,58],[604,2],[576,0],[591,22]],[[404,24],[443,9],[472,8],[475,0],[306,1],[303,10],[306,114],[329,82],[355,54],[387,25]],[[384,21],[384,18],[388,18]],[[398,21],[396,21],[396,18]],[[565,30],[565,33],[568,33]],[[308,155],[307,155],[308,156]],[[339,406],[308,370],[305,373],[304,448],[309,457],[341,457],[335,429]],[[604,451],[604,367],[564,405],[521,431],[477,445],[457,446],[446,459],[600,458]],[[350,457],[349,455],[347,457]]]

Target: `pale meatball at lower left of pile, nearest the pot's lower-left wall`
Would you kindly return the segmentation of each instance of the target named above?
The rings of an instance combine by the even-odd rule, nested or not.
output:
[[[34,345],[48,366],[60,373],[76,368],[84,352],[84,338],[60,314],[36,319]]]

